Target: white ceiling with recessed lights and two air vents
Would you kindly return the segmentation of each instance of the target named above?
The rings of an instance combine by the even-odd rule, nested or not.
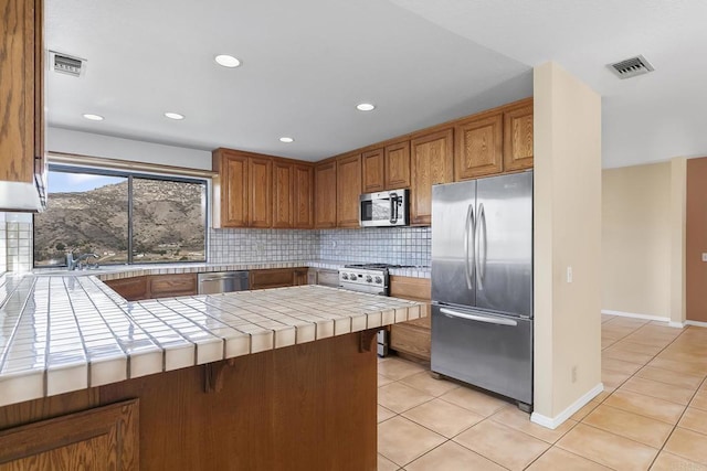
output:
[[[704,0],[46,0],[46,10],[48,47],[88,61],[81,78],[49,74],[53,127],[319,160],[529,96],[531,67],[556,61],[603,96],[604,167],[707,154]],[[220,53],[243,65],[215,65]],[[605,67],[636,54],[656,71],[620,81]],[[357,111],[361,101],[378,108]]]

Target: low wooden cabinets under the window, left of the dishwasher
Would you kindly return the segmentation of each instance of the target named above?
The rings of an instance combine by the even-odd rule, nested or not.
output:
[[[146,275],[107,280],[105,283],[127,301],[194,296],[199,290],[197,274]]]

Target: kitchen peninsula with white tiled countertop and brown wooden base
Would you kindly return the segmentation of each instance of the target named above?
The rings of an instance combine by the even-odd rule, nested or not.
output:
[[[3,275],[0,468],[374,470],[371,339],[420,312],[320,286],[127,302],[93,276]]]

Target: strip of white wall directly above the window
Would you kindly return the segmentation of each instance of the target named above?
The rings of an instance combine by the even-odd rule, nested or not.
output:
[[[63,128],[50,127],[48,129],[46,149],[50,152],[211,170],[211,151],[114,138]]]

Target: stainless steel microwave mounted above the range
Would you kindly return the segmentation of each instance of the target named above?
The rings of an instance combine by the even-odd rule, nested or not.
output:
[[[410,224],[410,190],[365,193],[359,199],[361,227],[407,226]]]

